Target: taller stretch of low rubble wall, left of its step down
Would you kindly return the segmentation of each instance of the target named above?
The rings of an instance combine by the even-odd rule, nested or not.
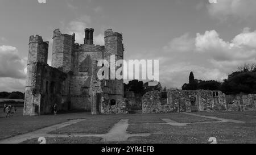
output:
[[[226,110],[225,95],[210,90],[151,91],[142,97],[143,113]]]

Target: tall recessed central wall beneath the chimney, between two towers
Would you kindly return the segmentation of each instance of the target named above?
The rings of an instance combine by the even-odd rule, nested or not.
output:
[[[73,69],[71,94],[73,97],[72,108],[90,111],[92,108],[92,72],[93,61],[103,59],[104,46],[100,45],[80,45],[75,50],[75,68]],[[87,58],[87,59],[86,59]],[[89,60],[87,62],[87,60]],[[86,61],[86,62],[85,62]],[[88,63],[88,70],[81,70],[82,63]],[[94,64],[95,65],[95,64]],[[86,71],[86,72],[85,72]],[[89,94],[83,92],[83,88],[87,87]]]

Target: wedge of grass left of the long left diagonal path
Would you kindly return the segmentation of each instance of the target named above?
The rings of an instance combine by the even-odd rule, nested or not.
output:
[[[22,114],[22,108],[18,108],[17,114],[13,114],[10,118],[5,118],[2,111],[0,112],[0,140],[67,122],[69,119],[80,119],[90,116],[88,112],[42,116],[22,116]]]

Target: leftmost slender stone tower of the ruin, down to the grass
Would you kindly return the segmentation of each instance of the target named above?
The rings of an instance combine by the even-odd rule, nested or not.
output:
[[[38,115],[40,104],[31,94],[36,90],[36,64],[47,64],[48,41],[43,41],[39,35],[30,36],[27,60],[27,80],[25,90],[24,115]]]

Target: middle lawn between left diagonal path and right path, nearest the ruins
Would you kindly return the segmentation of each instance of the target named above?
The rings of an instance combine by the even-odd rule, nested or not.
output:
[[[108,133],[109,130],[120,119],[129,119],[130,124],[141,123],[165,123],[162,118],[170,118],[177,122],[204,122],[216,121],[214,119],[201,118],[197,116],[189,116],[185,114],[127,114],[127,115],[96,115],[87,116],[85,121],[69,125],[64,128],[57,129],[49,133]]]

